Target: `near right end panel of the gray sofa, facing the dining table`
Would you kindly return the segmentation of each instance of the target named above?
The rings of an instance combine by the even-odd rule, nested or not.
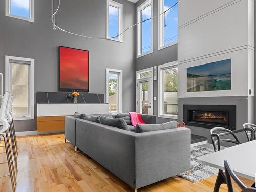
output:
[[[190,169],[190,129],[139,133],[136,143],[136,188]]]

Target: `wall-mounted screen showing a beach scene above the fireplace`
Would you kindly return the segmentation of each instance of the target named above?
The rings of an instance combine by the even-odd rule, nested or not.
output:
[[[231,89],[231,59],[187,68],[187,92]]]

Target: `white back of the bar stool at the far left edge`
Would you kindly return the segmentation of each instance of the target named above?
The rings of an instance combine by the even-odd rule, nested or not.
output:
[[[0,122],[3,125],[2,127],[0,127],[0,133],[3,133],[4,131],[6,131],[9,127],[9,123],[5,117],[5,112],[6,112],[9,97],[10,97],[10,92],[6,91],[3,98],[3,102],[0,107]]]

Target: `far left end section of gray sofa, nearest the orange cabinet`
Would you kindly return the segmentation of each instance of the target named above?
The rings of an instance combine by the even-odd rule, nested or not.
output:
[[[65,117],[65,139],[76,146],[76,120],[75,117]]]

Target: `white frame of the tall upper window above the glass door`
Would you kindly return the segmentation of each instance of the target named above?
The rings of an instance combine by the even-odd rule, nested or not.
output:
[[[141,11],[151,5],[151,17],[153,16],[153,1],[147,0],[137,7],[137,23],[141,22]],[[151,51],[141,54],[141,23],[137,25],[137,58],[153,53],[153,19],[151,19]]]

